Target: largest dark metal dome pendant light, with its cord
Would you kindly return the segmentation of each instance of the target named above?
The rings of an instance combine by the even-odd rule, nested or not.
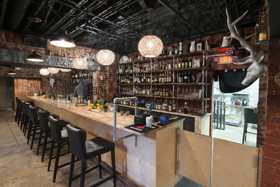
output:
[[[63,0],[64,1],[64,0]],[[58,34],[55,34],[50,43],[58,47],[75,47],[73,38],[67,35],[67,30],[63,29],[63,1],[62,1],[62,29],[59,29]]]

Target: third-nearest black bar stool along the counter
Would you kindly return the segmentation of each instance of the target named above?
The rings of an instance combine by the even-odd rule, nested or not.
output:
[[[38,142],[38,148],[37,148],[37,156],[39,154],[40,146],[44,145],[43,146],[43,153],[42,153],[42,160],[41,160],[41,162],[44,162],[45,151],[50,150],[50,148],[46,149],[46,145],[52,142],[52,141],[47,141],[48,137],[50,136],[49,135],[49,132],[50,132],[49,114],[48,114],[48,112],[45,112],[45,111],[42,111],[41,109],[39,109],[38,110],[38,116],[39,116],[41,130],[40,130],[40,136],[39,136],[39,142]],[[66,127],[66,125],[69,124],[69,122],[64,121],[62,119],[60,119],[58,121],[60,123],[61,130],[62,130],[63,127]],[[43,131],[45,131],[44,143],[41,144],[41,139],[43,138],[42,137]]]

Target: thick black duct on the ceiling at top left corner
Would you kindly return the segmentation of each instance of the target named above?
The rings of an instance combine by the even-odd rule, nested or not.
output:
[[[31,2],[29,0],[16,0],[13,5],[12,12],[9,16],[8,27],[11,30],[17,30],[26,15],[26,10],[28,10],[31,5]]]

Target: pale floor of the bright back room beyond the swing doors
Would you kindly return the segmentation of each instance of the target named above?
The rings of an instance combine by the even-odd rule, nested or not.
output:
[[[223,140],[233,141],[242,144],[244,127],[226,125],[225,130],[213,129],[212,136],[214,138],[219,138]],[[251,128],[248,123],[247,131],[257,133],[257,129]],[[245,145],[250,145],[253,147],[257,146],[257,135],[247,133]]]

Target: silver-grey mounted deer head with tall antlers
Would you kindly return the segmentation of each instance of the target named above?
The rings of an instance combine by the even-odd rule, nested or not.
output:
[[[248,85],[251,81],[255,80],[256,78],[258,78],[262,75],[267,76],[267,63],[264,62],[264,60],[265,60],[264,51],[261,50],[258,53],[256,53],[254,51],[253,47],[251,46],[251,44],[240,36],[240,33],[235,26],[235,24],[239,20],[241,20],[247,14],[247,12],[248,11],[246,11],[242,16],[240,16],[233,23],[231,23],[228,10],[226,9],[227,26],[228,26],[229,30],[231,31],[231,35],[228,38],[237,39],[241,43],[241,47],[239,47],[239,49],[246,49],[250,52],[250,56],[247,56],[245,58],[232,59],[232,60],[238,61],[238,62],[233,62],[233,63],[242,65],[242,64],[248,64],[248,63],[253,62],[253,64],[250,65],[250,67],[247,69],[247,75],[246,75],[245,79],[242,81],[243,85]],[[245,60],[245,61],[239,62],[239,61],[243,61],[243,60]]]

